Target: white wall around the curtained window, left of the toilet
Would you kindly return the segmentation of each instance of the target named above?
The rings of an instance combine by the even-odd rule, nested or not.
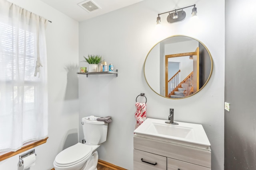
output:
[[[55,156],[78,139],[78,22],[40,0],[9,0],[51,20],[46,28],[48,57],[48,141],[36,147],[31,170],[50,170]],[[1,170],[21,170],[19,155],[0,162]]]

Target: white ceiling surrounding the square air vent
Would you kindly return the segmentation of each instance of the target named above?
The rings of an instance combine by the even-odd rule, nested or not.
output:
[[[81,6],[80,2],[88,2],[89,0],[41,0],[42,2],[52,6],[56,10],[70,16],[76,21],[84,21],[108,12],[135,4],[142,0],[90,0],[94,2],[100,9],[87,12]]]

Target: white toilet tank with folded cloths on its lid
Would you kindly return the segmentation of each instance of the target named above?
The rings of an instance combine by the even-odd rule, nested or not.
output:
[[[106,141],[108,132],[108,123],[104,121],[90,121],[82,118],[84,139],[86,143],[99,145]]]

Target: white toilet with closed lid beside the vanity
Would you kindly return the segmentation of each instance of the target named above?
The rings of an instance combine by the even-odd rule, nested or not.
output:
[[[55,170],[97,170],[98,152],[95,151],[106,141],[108,123],[82,118],[85,144],[77,143],[62,150],[55,158]]]

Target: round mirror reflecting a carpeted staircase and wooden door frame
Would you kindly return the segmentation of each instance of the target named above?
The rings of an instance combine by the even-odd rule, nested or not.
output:
[[[181,99],[198,93],[212,74],[212,56],[197,39],[168,37],[152,47],[144,62],[148,86],[160,96]]]

